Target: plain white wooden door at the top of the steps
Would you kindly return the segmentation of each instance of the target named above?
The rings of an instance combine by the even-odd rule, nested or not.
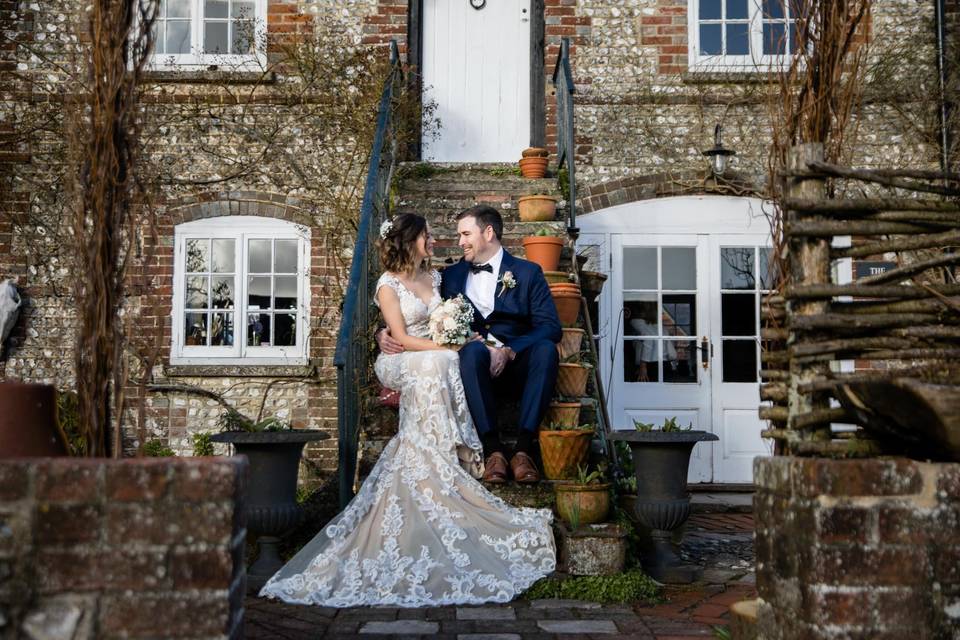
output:
[[[423,3],[424,160],[512,162],[530,142],[530,0]],[[425,111],[425,114],[428,113]]]

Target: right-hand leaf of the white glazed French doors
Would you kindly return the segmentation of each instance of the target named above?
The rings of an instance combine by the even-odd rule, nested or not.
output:
[[[719,482],[750,482],[753,458],[771,453],[760,437],[760,303],[775,280],[769,238],[710,238],[714,474]]]

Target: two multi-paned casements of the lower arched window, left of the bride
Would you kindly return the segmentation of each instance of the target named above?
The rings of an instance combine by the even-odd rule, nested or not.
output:
[[[307,239],[221,220],[178,228],[172,359],[302,358]]]

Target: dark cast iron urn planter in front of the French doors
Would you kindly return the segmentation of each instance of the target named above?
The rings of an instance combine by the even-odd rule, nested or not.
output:
[[[700,568],[683,562],[673,550],[671,532],[690,517],[687,471],[698,442],[719,440],[707,431],[623,431],[611,440],[630,445],[637,477],[635,513],[650,528],[653,546],[643,555],[643,569],[659,582],[689,584]]]

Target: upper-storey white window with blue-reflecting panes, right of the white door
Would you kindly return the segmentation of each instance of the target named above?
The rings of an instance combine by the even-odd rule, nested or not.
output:
[[[769,68],[796,53],[801,0],[689,0],[690,63]]]

